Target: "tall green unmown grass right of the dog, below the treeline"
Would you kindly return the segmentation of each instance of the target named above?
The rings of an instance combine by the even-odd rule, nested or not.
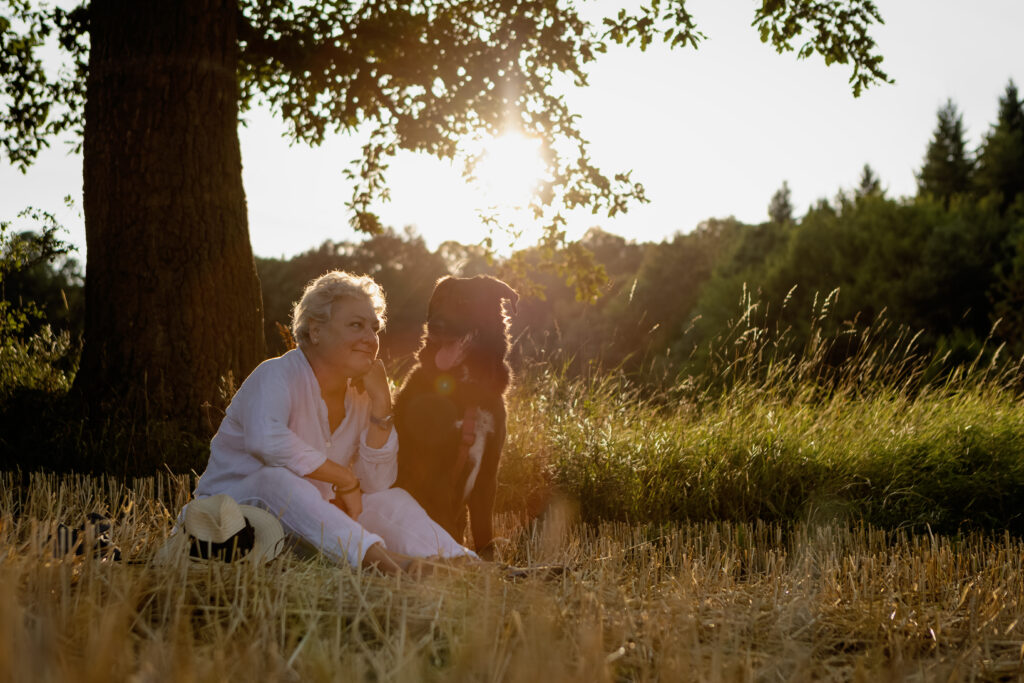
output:
[[[527,366],[511,396],[499,504],[528,516],[554,490],[588,522],[867,521],[919,532],[1024,533],[1024,374],[915,335],[829,319],[772,327],[748,298],[706,365],[652,384],[611,369]]]

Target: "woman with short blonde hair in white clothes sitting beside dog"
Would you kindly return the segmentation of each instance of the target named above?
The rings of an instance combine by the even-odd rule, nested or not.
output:
[[[298,348],[239,387],[210,443],[196,498],[227,494],[352,566],[386,572],[412,557],[474,557],[401,488],[391,391],[377,358],[384,294],[335,270],[295,305]]]

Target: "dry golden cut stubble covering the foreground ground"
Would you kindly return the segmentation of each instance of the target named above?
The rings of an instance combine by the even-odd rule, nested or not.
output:
[[[146,561],[190,481],[7,475],[0,678],[10,681],[1015,680],[1024,544],[864,524],[581,525],[500,519],[509,582],[413,582],[287,553]],[[54,557],[57,522],[111,514],[122,562]],[[136,560],[139,563],[131,563]]]

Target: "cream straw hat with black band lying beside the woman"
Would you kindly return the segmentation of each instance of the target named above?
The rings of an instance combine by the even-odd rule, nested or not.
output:
[[[186,505],[181,525],[154,559],[158,564],[172,564],[182,556],[197,561],[269,562],[284,545],[285,530],[276,517],[220,494]]]

